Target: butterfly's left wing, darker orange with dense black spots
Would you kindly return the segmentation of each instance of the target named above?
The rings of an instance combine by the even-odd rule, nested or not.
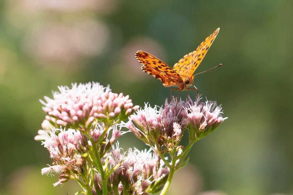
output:
[[[143,64],[142,70],[156,79],[160,79],[165,87],[178,86],[183,82],[178,73],[155,56],[145,51],[137,51],[135,57]]]

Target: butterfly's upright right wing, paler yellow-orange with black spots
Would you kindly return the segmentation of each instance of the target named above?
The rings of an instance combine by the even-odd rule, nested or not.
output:
[[[173,67],[173,69],[179,75],[192,76],[195,69],[200,65],[202,59],[207,54],[209,47],[212,45],[214,39],[216,38],[220,28],[217,28],[209,37],[207,37],[195,51],[190,52],[179,60]]]

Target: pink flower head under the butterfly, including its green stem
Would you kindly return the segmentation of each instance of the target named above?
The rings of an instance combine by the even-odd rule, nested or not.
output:
[[[191,146],[226,119],[222,118],[222,108],[215,101],[204,103],[200,99],[200,96],[195,101],[173,98],[170,103],[166,99],[164,107],[154,108],[146,104],[143,109],[131,115],[125,124],[137,138],[151,146],[170,169],[161,194],[168,190],[174,172],[188,163],[189,158],[185,162],[184,160]],[[189,144],[184,147],[180,142],[185,130],[189,133]],[[165,153],[170,154],[171,164],[164,156]]]

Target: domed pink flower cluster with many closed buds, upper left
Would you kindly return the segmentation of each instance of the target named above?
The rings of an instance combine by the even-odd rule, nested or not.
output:
[[[139,106],[133,106],[129,96],[110,92],[109,87],[99,83],[72,84],[71,88],[60,86],[53,92],[53,99],[45,96],[43,110],[48,114],[46,120],[57,125],[89,127],[95,119],[108,126],[126,119]],[[52,121],[56,118],[56,121]]]

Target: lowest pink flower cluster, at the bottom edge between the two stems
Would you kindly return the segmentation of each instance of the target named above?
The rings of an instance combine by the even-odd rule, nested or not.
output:
[[[169,169],[163,167],[163,161],[158,161],[159,157],[151,153],[151,150],[139,151],[134,148],[129,149],[127,153],[121,153],[117,144],[117,148],[113,148],[109,157],[109,163],[113,167],[119,165],[110,176],[113,188],[122,192],[124,186],[128,194],[143,193],[150,185],[153,187],[155,181],[168,176]]]

